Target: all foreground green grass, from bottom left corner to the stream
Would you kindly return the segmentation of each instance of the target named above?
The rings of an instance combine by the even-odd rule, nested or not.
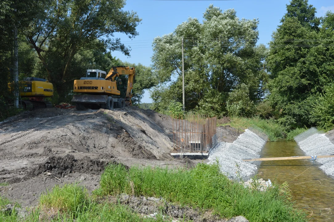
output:
[[[144,218],[127,206],[110,203],[105,198],[121,193],[163,197],[166,201],[188,205],[200,212],[209,211],[222,218],[242,215],[250,222],[306,221],[306,214],[292,207],[289,194],[278,185],[267,192],[244,188],[222,175],[217,165],[199,164],[190,170],[159,167],[127,170],[122,165],[109,165],[101,176],[100,185],[93,195],[78,184],[55,186],[40,196],[38,207],[24,221],[47,221],[50,215],[55,215],[51,219],[53,222],[172,220],[161,213],[156,219]],[[0,199],[1,207],[8,203]],[[0,218],[22,221],[17,218],[15,209],[0,211]]]

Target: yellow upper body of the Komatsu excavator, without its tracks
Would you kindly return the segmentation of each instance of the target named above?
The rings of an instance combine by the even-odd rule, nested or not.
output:
[[[53,85],[48,81],[19,81],[21,97],[52,97]]]

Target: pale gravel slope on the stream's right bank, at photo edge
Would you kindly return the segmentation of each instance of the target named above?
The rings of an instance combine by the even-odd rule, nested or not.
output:
[[[297,142],[297,144],[300,149],[309,156],[334,154],[334,145],[325,134],[315,133],[304,140]],[[321,164],[320,169],[326,174],[334,176],[334,158],[321,158],[316,161]]]

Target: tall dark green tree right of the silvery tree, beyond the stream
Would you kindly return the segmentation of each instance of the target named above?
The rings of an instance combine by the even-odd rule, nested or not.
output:
[[[268,99],[286,130],[310,126],[307,98],[326,84],[326,74],[319,69],[323,62],[319,53],[324,48],[308,40],[319,38],[315,13],[307,0],[292,0],[270,42]]]

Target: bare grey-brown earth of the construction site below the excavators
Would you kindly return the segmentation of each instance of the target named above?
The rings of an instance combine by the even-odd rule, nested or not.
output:
[[[173,158],[171,128],[169,116],[137,107],[23,112],[0,123],[0,195],[34,206],[55,184],[97,189],[108,163],[189,168],[207,162]],[[234,128],[217,128],[218,141],[237,136]]]

